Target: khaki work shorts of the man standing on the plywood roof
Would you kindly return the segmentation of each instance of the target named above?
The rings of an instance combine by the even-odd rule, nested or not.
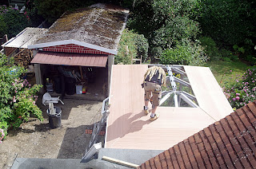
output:
[[[162,97],[162,88],[161,85],[158,83],[153,83],[146,81],[144,83],[144,90],[145,90],[145,100],[153,100],[153,108],[159,105],[160,99]]]

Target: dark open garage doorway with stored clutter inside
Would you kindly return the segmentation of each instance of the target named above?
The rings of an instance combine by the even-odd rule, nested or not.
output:
[[[41,65],[43,91],[51,96],[104,100],[107,96],[108,68],[78,65]]]

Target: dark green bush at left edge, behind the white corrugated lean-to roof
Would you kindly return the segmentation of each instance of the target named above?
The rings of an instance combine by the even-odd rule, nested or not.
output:
[[[15,37],[18,33],[30,26],[30,18],[26,14],[20,14],[18,10],[11,6],[0,6],[0,34],[6,34],[8,37]],[[1,19],[2,18],[2,19]]]

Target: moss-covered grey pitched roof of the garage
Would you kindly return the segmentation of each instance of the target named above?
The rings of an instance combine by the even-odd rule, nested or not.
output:
[[[129,10],[95,4],[66,12],[35,44],[74,39],[107,49],[118,49]]]

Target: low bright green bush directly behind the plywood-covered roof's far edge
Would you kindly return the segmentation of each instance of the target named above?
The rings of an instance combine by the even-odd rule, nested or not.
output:
[[[160,57],[163,65],[202,65],[207,61],[206,53],[198,41],[182,41],[174,49],[166,49]]]

